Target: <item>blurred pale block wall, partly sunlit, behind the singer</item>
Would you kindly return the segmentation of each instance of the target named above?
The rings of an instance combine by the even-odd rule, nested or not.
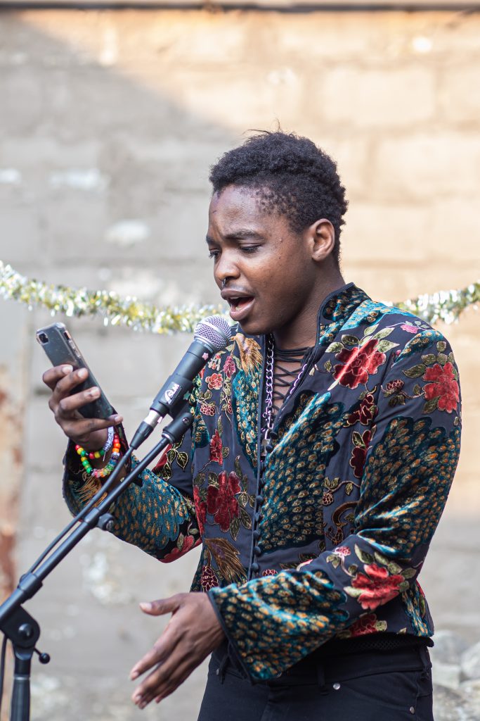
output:
[[[479,277],[479,115],[475,6],[3,4],[0,260],[160,306],[217,302],[209,166],[250,129],[280,124],[338,162],[347,282],[386,301],[463,288]],[[191,336],[57,319],[131,434]],[[49,322],[0,298],[2,596],[69,520],[65,438],[35,342]],[[470,721],[480,718],[479,316],[439,327],[461,371],[463,450],[420,582],[438,629],[436,718]],[[197,560],[160,565],[89,534],[27,604],[52,655],[33,661],[32,720],[195,719],[205,668],[143,712],[128,673],[162,627],[137,603],[188,590]]]

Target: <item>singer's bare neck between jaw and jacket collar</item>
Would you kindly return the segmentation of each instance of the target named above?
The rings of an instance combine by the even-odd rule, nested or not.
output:
[[[273,332],[277,348],[305,348],[317,342],[317,317],[320,306],[325,298],[345,285],[345,280],[337,270],[329,273],[327,280],[322,280],[315,287],[314,293],[302,311],[286,326]]]

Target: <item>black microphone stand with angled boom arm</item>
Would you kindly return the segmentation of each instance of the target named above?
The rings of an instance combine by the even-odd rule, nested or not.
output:
[[[172,414],[173,415],[173,414]],[[109,513],[112,503],[122,492],[135,480],[150,464],[155,456],[170,443],[177,443],[181,440],[186,430],[193,422],[193,416],[185,406],[171,423],[168,423],[162,430],[162,437],[142,461],[122,481],[109,490],[99,505],[91,508],[84,518],[79,518],[80,525],[71,531],[65,541],[56,548],[47,559],[33,572],[24,574],[17,585],[16,590],[6,598],[0,606],[0,630],[12,642],[14,650],[14,682],[12,691],[12,702],[10,707],[10,721],[30,721],[30,667],[32,655],[37,653],[40,663],[48,663],[50,656],[47,653],[40,653],[35,647],[40,637],[40,626],[27,611],[22,603],[35,596],[42,588],[42,581],[60,561],[75,547],[79,541],[86,536],[92,528],[101,528],[102,531],[112,531],[114,528],[114,516]],[[132,454],[133,448],[129,448],[123,456],[124,462]],[[122,466],[117,466],[110,479],[114,480],[115,471],[119,473]],[[101,496],[101,491],[99,492]],[[0,698],[1,702],[1,698]]]

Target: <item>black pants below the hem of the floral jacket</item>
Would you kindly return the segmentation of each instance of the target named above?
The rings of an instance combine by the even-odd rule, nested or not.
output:
[[[430,668],[420,645],[309,657],[251,685],[214,654],[198,721],[433,721]]]

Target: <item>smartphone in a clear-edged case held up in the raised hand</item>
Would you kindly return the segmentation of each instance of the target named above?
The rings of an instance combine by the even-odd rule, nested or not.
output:
[[[47,325],[45,328],[39,328],[35,335],[53,366],[63,366],[68,363],[73,366],[74,370],[86,368],[87,371],[89,371],[86,380],[78,386],[75,386],[71,394],[85,391],[92,386],[98,386],[100,388],[85,358],[83,358],[80,350],[78,350],[76,342],[63,323],[53,323],[52,325]],[[110,415],[113,415],[115,411],[100,388],[100,397],[90,403],[86,403],[78,409],[78,412],[85,418],[108,418]]]

